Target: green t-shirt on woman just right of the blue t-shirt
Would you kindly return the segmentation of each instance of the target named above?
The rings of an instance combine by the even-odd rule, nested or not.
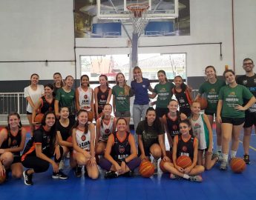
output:
[[[157,107],[167,108],[173,96],[172,88],[174,88],[174,84],[171,82],[159,83],[154,87],[154,93],[157,93]]]

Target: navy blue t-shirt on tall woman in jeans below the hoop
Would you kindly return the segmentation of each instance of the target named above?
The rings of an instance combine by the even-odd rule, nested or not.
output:
[[[134,104],[145,105],[148,104],[148,87],[150,86],[149,80],[142,78],[141,83],[136,80],[131,81],[131,90],[133,90],[135,99]]]

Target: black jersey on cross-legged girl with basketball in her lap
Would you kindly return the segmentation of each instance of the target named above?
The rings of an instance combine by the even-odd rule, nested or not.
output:
[[[191,136],[188,141],[183,141],[182,136],[178,136],[178,144],[177,144],[177,158],[179,156],[188,156],[191,161],[194,158],[194,137]]]

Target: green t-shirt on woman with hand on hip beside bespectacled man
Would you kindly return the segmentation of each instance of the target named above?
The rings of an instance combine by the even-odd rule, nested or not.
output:
[[[234,109],[234,106],[243,105],[243,99],[251,99],[252,96],[252,93],[240,84],[236,87],[229,87],[229,85],[221,87],[219,93],[219,99],[223,100],[221,116],[233,119],[244,118],[245,112]]]

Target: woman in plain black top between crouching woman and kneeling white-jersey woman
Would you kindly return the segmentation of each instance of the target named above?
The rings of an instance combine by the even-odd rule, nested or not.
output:
[[[56,133],[59,145],[63,148],[63,157],[62,161],[59,164],[59,170],[62,170],[64,167],[64,158],[70,153],[70,166],[76,167],[76,164],[73,162],[73,143],[72,140],[69,140],[72,132],[72,125],[68,119],[69,111],[68,107],[61,107],[59,110],[59,121],[56,122]]]

